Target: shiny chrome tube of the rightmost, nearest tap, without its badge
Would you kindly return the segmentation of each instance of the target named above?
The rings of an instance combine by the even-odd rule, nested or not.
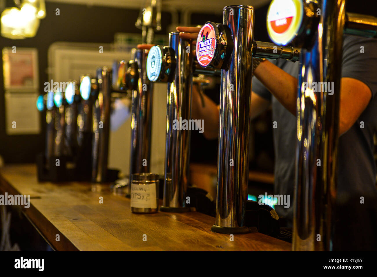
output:
[[[344,2],[321,4],[322,33],[317,34],[311,50],[302,50],[300,60],[292,246],[295,251],[332,250]],[[307,88],[305,82],[334,82],[333,94]],[[317,166],[318,162],[321,166]]]

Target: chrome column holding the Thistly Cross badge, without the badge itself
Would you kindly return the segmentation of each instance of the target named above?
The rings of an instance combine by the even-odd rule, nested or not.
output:
[[[248,187],[254,8],[227,6],[224,25],[232,33],[229,70],[221,74],[216,221],[211,230],[242,234]],[[200,35],[200,34],[199,34]]]

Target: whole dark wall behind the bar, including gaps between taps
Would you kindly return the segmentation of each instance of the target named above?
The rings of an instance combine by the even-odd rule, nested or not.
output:
[[[362,5],[361,5],[362,4]],[[376,16],[375,1],[372,0],[348,0],[347,11],[364,13]],[[55,9],[60,9],[60,15],[55,15]],[[38,50],[38,70],[39,87],[43,92],[43,84],[48,79],[47,70],[47,51],[49,46],[55,41],[72,42],[98,42],[112,43],[116,32],[141,33],[135,27],[138,17],[138,9],[122,9],[86,5],[70,5],[63,3],[46,3],[47,16],[40,21],[40,27],[34,38],[25,40],[9,40],[0,37],[1,47],[34,47]],[[268,5],[256,9],[255,13],[255,40],[270,41],[267,36],[266,14]],[[195,13],[191,17],[192,24],[203,24],[205,21],[222,22],[222,15]],[[171,22],[169,13],[162,14],[162,30],[166,33],[167,25]],[[208,91],[210,96],[218,100],[219,90]],[[0,155],[5,161],[10,162],[34,162],[38,152],[43,151],[44,146],[44,124],[45,114],[41,114],[40,135],[12,135],[5,134],[5,106],[4,106],[4,87],[3,87],[3,66],[0,59]],[[33,103],[34,105],[34,103]],[[193,136],[193,144],[201,145],[203,151],[196,148],[195,154],[192,153],[193,160],[213,161],[217,159],[217,143],[206,141],[201,134]],[[269,145],[268,147],[272,147]]]

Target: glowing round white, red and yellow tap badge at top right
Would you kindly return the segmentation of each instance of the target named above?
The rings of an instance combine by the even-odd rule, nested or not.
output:
[[[273,0],[267,12],[267,30],[271,40],[286,45],[297,35],[303,17],[301,0]]]

